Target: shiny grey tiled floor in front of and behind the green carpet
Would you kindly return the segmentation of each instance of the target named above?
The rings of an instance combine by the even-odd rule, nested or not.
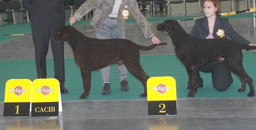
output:
[[[222,3],[226,3],[223,4],[222,11],[230,11],[229,2]],[[243,10],[246,1],[239,3],[239,10]],[[173,7],[172,15],[182,15],[181,7]],[[197,4],[189,4],[187,8],[188,15],[198,14]],[[161,16],[165,14],[156,15]],[[230,19],[230,23],[239,34],[256,43],[253,19]],[[190,32],[193,24],[194,21],[181,22],[186,32]],[[155,24],[151,23],[150,26],[160,40],[169,44],[151,51],[141,51],[141,55],[174,54],[170,38],[158,32]],[[77,25],[76,28],[85,35],[94,37],[94,31],[86,31],[92,29],[90,25]],[[143,38],[136,23],[127,24],[126,38],[141,45],[152,44],[150,40]],[[51,48],[48,59],[52,59],[50,50]],[[67,43],[65,58],[73,58]],[[0,44],[0,60],[15,59],[34,59],[31,35],[20,36]],[[32,118],[3,117],[4,103],[1,102],[0,129],[256,129],[255,98],[178,99],[177,105],[177,116],[147,116],[146,100],[63,101],[63,113],[59,117]]]

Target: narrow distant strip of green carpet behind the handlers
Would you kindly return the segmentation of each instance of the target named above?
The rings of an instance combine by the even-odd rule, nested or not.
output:
[[[167,19],[176,19],[176,20],[184,20],[190,19],[200,16],[174,16],[174,17],[148,17],[148,22],[162,22]],[[228,18],[253,18],[253,13],[244,13],[244,14],[237,14],[237,15],[230,15],[225,16]],[[135,19],[130,18],[126,20],[126,23],[135,23]],[[66,21],[66,25],[69,24],[69,21]],[[90,20],[80,20],[77,21],[74,25],[81,25],[81,24],[90,24]],[[31,25],[30,23],[18,23],[18,24],[4,24],[0,26],[0,35],[3,34],[26,34],[31,33]],[[15,38],[16,36],[0,36],[0,43],[7,41],[9,39]]]

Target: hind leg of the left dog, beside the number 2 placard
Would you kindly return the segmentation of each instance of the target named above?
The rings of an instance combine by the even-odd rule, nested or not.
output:
[[[136,61],[139,62],[139,61]],[[146,82],[150,78],[142,69],[141,65],[136,62],[125,62],[123,60],[123,64],[126,66],[127,70],[132,73],[144,86],[144,93],[140,94],[141,97],[146,97],[147,90],[146,90]]]

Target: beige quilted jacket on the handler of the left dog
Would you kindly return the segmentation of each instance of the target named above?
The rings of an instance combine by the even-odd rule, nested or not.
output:
[[[111,14],[114,4],[115,0],[87,0],[75,12],[74,16],[77,20],[80,20],[84,15],[95,8],[95,12],[93,13],[91,20],[91,25],[95,30],[98,30],[103,24],[105,18]],[[119,14],[117,16],[121,34],[123,35],[125,30],[125,19],[123,19],[121,14],[121,11],[125,9],[125,5],[127,6],[127,10],[130,12],[130,15],[132,14],[136,22],[139,24],[139,27],[142,30],[145,38],[152,37],[154,34],[147,24],[146,18],[141,14],[138,8],[138,4],[135,0],[122,0],[121,6],[119,8]]]

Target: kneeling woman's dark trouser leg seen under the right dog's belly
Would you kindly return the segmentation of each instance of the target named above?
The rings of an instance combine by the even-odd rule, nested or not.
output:
[[[199,66],[199,71],[211,72],[212,86],[219,91],[225,91],[233,83],[231,72],[225,61],[212,61],[206,65]]]

